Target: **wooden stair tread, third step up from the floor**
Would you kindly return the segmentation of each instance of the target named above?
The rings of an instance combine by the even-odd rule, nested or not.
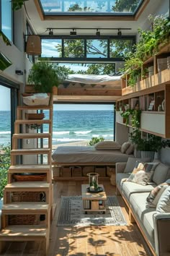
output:
[[[16,191],[45,191],[50,188],[50,184],[47,182],[14,182],[5,186],[5,192],[16,192]]]

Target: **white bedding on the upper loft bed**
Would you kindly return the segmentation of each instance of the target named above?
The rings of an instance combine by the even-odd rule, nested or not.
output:
[[[109,85],[113,81],[119,81],[120,76],[109,76],[107,74],[68,74],[66,82],[81,82],[84,84]]]

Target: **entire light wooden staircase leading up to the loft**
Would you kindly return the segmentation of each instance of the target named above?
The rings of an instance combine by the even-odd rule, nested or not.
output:
[[[27,111],[48,111],[48,119],[25,119]],[[27,125],[48,124],[48,132],[28,133]],[[0,249],[5,242],[42,241],[44,255],[48,255],[50,221],[53,218],[53,184],[51,177],[53,104],[50,106],[18,106],[17,120],[12,137],[11,166],[8,184],[4,188],[2,207],[2,229]],[[48,140],[48,148],[43,147],[43,139]],[[34,140],[36,147],[23,148],[23,141]],[[32,162],[23,163],[23,156],[33,155]],[[36,157],[36,163],[34,161]],[[46,156],[46,162],[42,159]],[[29,158],[30,159],[30,158]],[[27,160],[27,158],[26,158]],[[24,158],[25,161],[25,158]],[[45,174],[43,181],[15,180],[14,174]],[[27,175],[28,176],[28,175]],[[29,177],[29,176],[28,176]],[[38,175],[37,175],[38,179]]]

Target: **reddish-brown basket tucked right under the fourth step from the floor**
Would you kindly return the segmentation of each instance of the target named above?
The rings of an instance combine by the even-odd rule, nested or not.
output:
[[[47,179],[47,174],[13,174],[14,182],[44,182]]]

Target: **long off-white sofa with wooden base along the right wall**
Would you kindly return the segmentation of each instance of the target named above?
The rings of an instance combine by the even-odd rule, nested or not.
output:
[[[135,158],[129,158],[128,163],[116,164],[117,195],[122,195],[128,205],[130,222],[138,224],[153,255],[168,256],[170,255],[170,212],[158,213],[156,208],[147,208],[146,198],[154,187],[170,178],[170,167],[164,163],[158,163],[152,182],[143,186],[124,182],[133,171],[134,165]]]

